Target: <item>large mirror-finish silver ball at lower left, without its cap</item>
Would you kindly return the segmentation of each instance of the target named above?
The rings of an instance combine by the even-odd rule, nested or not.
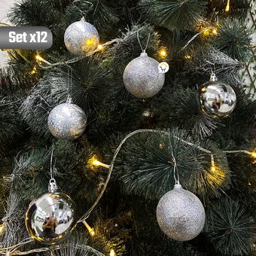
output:
[[[59,242],[75,225],[75,203],[63,193],[43,194],[30,203],[26,212],[26,228],[38,242]]]

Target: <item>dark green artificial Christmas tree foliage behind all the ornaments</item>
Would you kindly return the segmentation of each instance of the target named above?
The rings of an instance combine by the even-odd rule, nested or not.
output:
[[[225,13],[225,1],[203,0],[23,0],[15,4],[8,14],[11,23],[47,26],[53,32],[53,47],[9,51],[11,66],[0,71],[0,217],[8,223],[0,246],[28,236],[23,216],[29,202],[47,190],[53,148],[59,189],[75,200],[81,216],[96,200],[108,173],[90,166],[88,160],[96,156],[110,163],[128,133],[156,129],[157,133],[136,135],[123,145],[105,195],[87,220],[96,236],[89,236],[78,224],[63,242],[65,248],[53,252],[85,255],[81,247],[87,245],[103,254],[114,248],[117,255],[133,256],[252,254],[255,160],[247,154],[222,152],[255,148],[256,104],[242,89],[240,75],[251,57],[245,20],[249,5],[246,0],[230,0],[230,12]],[[217,16],[218,35],[197,35],[199,21],[216,26]],[[63,35],[81,17],[96,26],[102,43],[119,41],[76,62],[51,69],[38,66],[36,53],[53,63],[75,57],[66,50]],[[148,55],[170,67],[163,90],[151,99],[136,99],[123,85],[123,69],[141,53],[137,32],[142,46],[151,35]],[[165,59],[159,56],[163,47]],[[225,119],[213,120],[200,111],[197,90],[209,81],[212,69],[236,91],[236,108]],[[56,140],[47,130],[50,110],[69,94],[88,117],[84,135],[73,142]],[[210,169],[209,154],[184,145],[177,136],[212,151],[217,172]],[[158,200],[174,184],[171,150],[182,186],[197,194],[206,208],[203,233],[187,242],[166,237],[155,216]],[[33,242],[22,249],[40,247]]]

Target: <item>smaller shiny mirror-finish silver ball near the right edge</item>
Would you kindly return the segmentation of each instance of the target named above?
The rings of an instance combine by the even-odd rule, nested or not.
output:
[[[227,117],[236,106],[236,93],[221,81],[209,81],[200,87],[200,105],[209,117]]]

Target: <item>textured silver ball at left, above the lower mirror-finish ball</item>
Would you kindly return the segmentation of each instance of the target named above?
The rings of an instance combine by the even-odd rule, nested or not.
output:
[[[84,133],[87,117],[75,104],[62,103],[50,111],[48,128],[58,139],[77,139]]]

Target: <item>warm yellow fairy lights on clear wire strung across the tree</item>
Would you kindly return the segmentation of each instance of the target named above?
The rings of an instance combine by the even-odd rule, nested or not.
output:
[[[224,11],[225,12],[228,12],[230,11],[230,0],[227,0],[227,5],[226,7],[224,8]],[[184,50],[185,47],[187,47],[188,44],[190,44],[191,41],[194,40],[194,38],[196,38],[197,36],[199,35],[203,35],[203,36],[216,36],[218,35],[218,23],[216,24],[216,26],[204,26],[202,23],[198,24],[198,26],[196,26],[196,29],[199,31],[197,33],[197,35],[194,35],[193,38],[190,38],[189,41],[187,41],[187,44],[184,45],[184,47],[182,47],[181,50]],[[41,68],[41,69],[51,69],[53,67],[56,67],[56,66],[60,66],[60,65],[69,65],[73,62],[78,62],[79,60],[81,59],[84,59],[85,57],[87,56],[92,56],[94,53],[96,52],[99,52],[99,51],[102,51],[102,50],[105,50],[106,47],[108,47],[108,45],[111,45],[111,44],[118,44],[119,42],[121,41],[120,38],[117,38],[117,39],[114,39],[114,40],[111,40],[111,41],[108,41],[104,44],[98,44],[96,49],[95,50],[92,50],[90,51],[89,53],[87,54],[84,54],[84,56],[77,56],[73,59],[69,59],[65,62],[56,62],[56,63],[51,63],[49,61],[47,61],[47,59],[44,59],[40,53],[37,53],[35,55],[35,60],[36,62],[38,63],[38,66]],[[158,51],[158,55],[160,56],[160,58],[162,59],[166,59],[166,57],[168,56],[168,49],[166,47],[163,47],[161,48],[159,51]],[[183,56],[184,59],[191,59],[193,58],[193,56],[191,56],[190,54],[185,54]],[[43,65],[44,63],[44,65]],[[37,72],[38,72],[38,66],[33,66],[32,70],[29,72],[30,75],[35,75]],[[99,200],[101,199],[102,195],[104,194],[105,192],[105,189],[108,185],[108,181],[110,181],[110,178],[111,178],[111,172],[113,171],[114,169],[114,160],[116,159],[117,157],[117,154],[118,152],[120,151],[120,148],[121,146],[123,145],[123,143],[126,141],[126,139],[129,139],[131,136],[135,135],[136,133],[144,133],[144,132],[149,132],[149,133],[156,133],[156,132],[159,132],[157,130],[136,130],[134,131],[133,133],[130,133],[129,135],[127,135],[122,142],[120,142],[120,145],[118,146],[117,150],[115,151],[114,153],[114,157],[113,157],[113,160],[111,161],[111,164],[106,164],[106,163],[102,163],[101,161],[98,160],[98,158],[96,157],[96,155],[93,155],[93,157],[91,157],[88,161],[87,161],[87,164],[88,166],[91,166],[92,169],[95,169],[95,168],[98,168],[99,166],[105,168],[105,169],[108,169],[108,177],[106,178],[105,180],[105,184],[104,184],[104,187],[102,188],[102,191],[101,193],[99,194],[99,197],[96,199],[96,202],[93,204],[93,206],[87,211],[87,213],[85,213],[85,215],[83,215],[83,217],[81,217],[78,221],[83,223],[84,226],[87,228],[88,230],[88,233],[90,234],[90,236],[96,236],[96,231],[93,230],[92,227],[90,227],[90,224],[87,223],[87,218],[89,217],[90,215],[90,212],[93,211],[93,209],[96,207],[97,203],[99,203]],[[165,132],[165,131],[160,131],[160,133],[169,133],[169,132]],[[180,139],[178,137],[176,137],[176,139]],[[210,170],[212,172],[217,172],[218,171],[218,166],[215,166],[215,158],[214,158],[214,154],[212,154],[212,151],[209,151],[207,150],[206,148],[202,148],[198,145],[195,145],[194,143],[191,143],[191,142],[186,142],[182,139],[180,139],[181,142],[183,142],[184,144],[187,144],[187,145],[190,145],[194,148],[197,148],[198,150],[200,151],[203,151],[207,154],[209,154],[209,157],[210,157],[210,163],[211,163],[211,166],[210,166]],[[254,151],[247,151],[247,150],[235,150],[235,151],[222,151],[222,153],[225,153],[225,154],[248,154],[250,157],[252,158],[256,158],[256,148],[254,149]],[[0,224],[0,236],[5,232],[5,221],[3,224]],[[29,240],[30,241],[30,240]],[[11,250],[16,248],[16,245],[12,246],[11,247]],[[5,248],[1,248],[0,249],[0,254],[3,254],[2,252],[6,252],[8,253],[8,251],[10,251],[10,248],[6,248],[6,251],[4,251]],[[111,251],[109,251],[109,256],[115,256],[116,253],[114,251],[114,249],[111,249]]]

